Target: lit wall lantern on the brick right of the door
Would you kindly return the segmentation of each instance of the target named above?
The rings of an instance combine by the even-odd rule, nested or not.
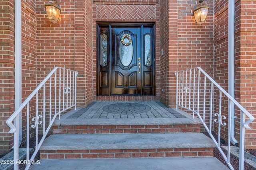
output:
[[[193,14],[196,25],[203,24],[208,14],[209,6],[202,5],[202,2],[204,2],[204,0],[198,0],[197,5],[194,7]]]

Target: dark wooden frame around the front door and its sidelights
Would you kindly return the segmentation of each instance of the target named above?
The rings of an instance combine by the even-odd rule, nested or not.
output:
[[[156,87],[155,87],[155,84],[156,84],[156,23],[155,22],[129,22],[129,23],[123,23],[123,22],[97,22],[97,27],[96,27],[96,67],[97,67],[97,72],[96,72],[96,94],[97,96],[155,96],[156,95]],[[108,74],[108,95],[101,95],[99,94],[100,90],[100,53],[99,53],[99,49],[100,49],[100,26],[105,26],[107,27],[108,26],[108,31],[109,31],[109,35],[108,36],[108,63],[110,64],[109,65],[109,74]],[[111,94],[111,74],[112,74],[112,51],[110,50],[110,47],[112,46],[112,32],[111,32],[111,26],[118,26],[118,27],[141,27],[141,51],[142,51],[142,56],[144,57],[144,36],[143,36],[143,28],[144,26],[150,26],[152,27],[152,30],[153,30],[153,48],[152,48],[152,51],[153,51],[153,59],[152,59],[152,78],[153,78],[153,82],[152,82],[152,95],[144,95],[144,74],[141,74],[141,94],[138,95],[138,94]],[[142,64],[142,66],[144,66],[144,63]],[[142,67],[143,68],[143,67]],[[141,68],[141,70],[143,70]],[[143,73],[143,72],[142,72]]]

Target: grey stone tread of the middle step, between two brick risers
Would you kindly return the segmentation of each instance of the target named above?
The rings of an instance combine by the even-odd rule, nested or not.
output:
[[[212,148],[203,133],[55,134],[40,150]]]

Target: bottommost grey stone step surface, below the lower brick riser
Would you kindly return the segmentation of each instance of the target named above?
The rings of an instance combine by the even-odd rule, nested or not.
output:
[[[58,159],[40,160],[30,170],[228,170],[218,159],[134,158],[134,159]]]

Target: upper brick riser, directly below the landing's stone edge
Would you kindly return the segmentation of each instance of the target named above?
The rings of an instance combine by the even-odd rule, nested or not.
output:
[[[86,125],[53,126],[54,134],[199,133],[200,125]]]

